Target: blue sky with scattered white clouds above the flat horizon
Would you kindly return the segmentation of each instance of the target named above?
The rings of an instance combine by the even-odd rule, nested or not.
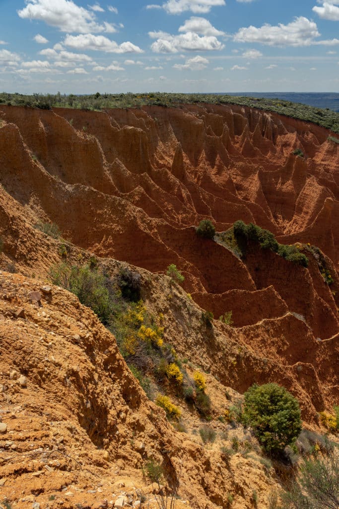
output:
[[[339,91],[339,0],[0,0],[0,7],[2,91]]]

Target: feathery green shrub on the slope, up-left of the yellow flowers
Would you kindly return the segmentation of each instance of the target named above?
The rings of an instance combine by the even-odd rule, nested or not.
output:
[[[91,270],[88,265],[77,267],[60,263],[50,269],[49,275],[54,285],[74,293],[81,304],[90,307],[104,324],[108,323],[111,315],[109,280],[100,271]]]

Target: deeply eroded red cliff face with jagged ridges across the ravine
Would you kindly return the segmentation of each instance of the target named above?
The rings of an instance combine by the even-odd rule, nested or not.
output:
[[[0,234],[21,267],[45,273],[59,260],[50,239],[32,228],[39,219],[97,256],[151,272],[174,263],[198,304],[216,318],[232,310],[234,341],[280,364],[264,369],[249,358],[233,379],[239,390],[273,378],[309,394],[308,415],[333,403],[339,145],[327,140],[329,131],[207,104],[104,112],[2,105],[0,118]],[[304,157],[293,154],[297,148]],[[255,245],[239,260],[196,236],[203,218],[217,231],[242,219],[279,242],[317,245],[333,284],[311,253],[307,269]],[[230,381],[222,366],[217,371]]]

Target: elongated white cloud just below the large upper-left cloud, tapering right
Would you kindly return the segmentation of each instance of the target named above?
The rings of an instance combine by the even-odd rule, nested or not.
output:
[[[67,34],[64,44],[73,49],[89,49],[92,51],[105,51],[106,53],[143,53],[139,46],[135,46],[129,41],[117,44],[103,35],[83,34],[72,36]]]

